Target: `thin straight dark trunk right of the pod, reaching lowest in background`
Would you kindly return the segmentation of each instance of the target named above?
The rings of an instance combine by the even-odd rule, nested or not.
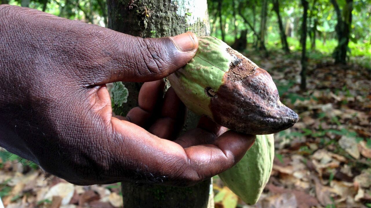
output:
[[[303,22],[302,22],[302,28],[301,28],[301,45],[302,45],[302,56],[301,56],[301,65],[302,70],[300,72],[301,76],[301,84],[300,88],[301,90],[306,89],[306,67],[307,67],[307,60],[306,60],[306,34],[307,34],[307,16],[308,16],[308,1],[301,0],[302,6],[303,6]]]

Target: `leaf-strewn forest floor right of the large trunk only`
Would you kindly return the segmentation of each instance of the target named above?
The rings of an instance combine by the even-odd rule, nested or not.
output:
[[[275,134],[273,171],[259,202],[244,205],[216,177],[217,207],[371,207],[370,68],[309,53],[308,89],[301,91],[299,52],[245,56],[270,73],[300,119]]]

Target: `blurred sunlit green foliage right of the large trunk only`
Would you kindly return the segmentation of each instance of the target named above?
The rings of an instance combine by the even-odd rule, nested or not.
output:
[[[208,0],[211,35],[221,38],[220,17],[218,4],[221,2],[221,16],[223,30],[226,34],[225,41],[233,45],[233,42],[240,37],[243,30],[247,30],[248,47],[257,45],[257,38],[254,37],[254,31],[243,20],[243,17],[253,25],[253,28],[259,33],[260,11],[262,2],[258,0]],[[310,34],[307,38],[307,48],[312,51],[318,51],[323,56],[331,56],[338,45],[335,26],[337,24],[334,6],[330,0],[309,0],[308,10],[308,33],[315,31],[315,47],[311,46]],[[345,0],[336,1],[343,9]],[[266,47],[268,51],[281,48],[280,30],[278,18],[273,10],[273,2],[268,2],[268,20],[266,33]],[[291,50],[301,50],[300,30],[303,9],[300,1],[279,1],[280,16],[285,27],[285,33],[288,36],[288,44]],[[241,10],[241,16],[238,12]],[[345,12],[345,11],[344,11]],[[348,45],[348,55],[353,60],[359,60],[370,68],[371,60],[371,1],[354,0],[352,10],[351,36]],[[354,58],[357,57],[357,58]]]

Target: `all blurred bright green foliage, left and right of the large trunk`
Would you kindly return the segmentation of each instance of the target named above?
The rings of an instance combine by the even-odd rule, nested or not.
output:
[[[247,30],[247,47],[257,48],[258,37],[250,28],[248,21],[259,35],[263,1],[259,0],[207,0],[211,35],[222,38],[233,45],[240,38],[242,31]],[[331,0],[309,0],[307,48],[318,51],[323,56],[331,56],[338,45],[335,26],[336,12]],[[345,0],[336,0],[340,9],[346,5]],[[77,19],[86,23],[108,26],[106,0],[0,0],[0,3],[26,6],[45,11],[56,16]],[[371,0],[354,0],[352,24],[348,52],[351,60],[357,60],[370,68],[371,60]],[[221,7],[220,7],[221,6]],[[300,50],[300,25],[302,18],[300,1],[279,1],[279,12],[288,37],[290,50]],[[239,12],[240,11],[240,12]],[[345,11],[344,11],[345,12]],[[220,21],[221,18],[221,21]],[[245,19],[245,20],[244,20]],[[221,27],[222,24],[222,27]],[[313,31],[315,39],[313,41]],[[311,40],[309,40],[311,39]],[[314,46],[312,46],[313,44]],[[281,48],[278,18],[273,10],[273,1],[268,0],[265,44],[267,50]],[[354,58],[356,57],[356,58]]]

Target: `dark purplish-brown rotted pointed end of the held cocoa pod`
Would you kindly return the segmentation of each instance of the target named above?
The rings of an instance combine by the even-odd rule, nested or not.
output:
[[[229,74],[211,99],[210,109],[216,123],[246,134],[272,134],[292,127],[298,115],[279,101],[270,75],[262,68],[240,81]]]

